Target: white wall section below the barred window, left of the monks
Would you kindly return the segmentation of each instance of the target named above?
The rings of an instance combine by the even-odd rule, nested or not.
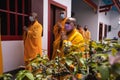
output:
[[[17,69],[23,65],[23,42],[2,41],[3,72]]]

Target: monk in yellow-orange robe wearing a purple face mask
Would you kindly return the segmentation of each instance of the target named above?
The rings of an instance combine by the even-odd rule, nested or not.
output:
[[[79,45],[79,46],[81,46],[81,49],[83,49],[83,47],[84,47],[84,39],[83,39],[82,35],[76,29],[76,19],[75,18],[70,17],[67,19],[67,21],[65,23],[65,30],[66,30],[66,33],[61,33],[61,37],[62,37],[62,41],[63,41],[62,56],[64,56],[64,54],[65,54],[64,44],[66,42],[71,42],[72,45]]]

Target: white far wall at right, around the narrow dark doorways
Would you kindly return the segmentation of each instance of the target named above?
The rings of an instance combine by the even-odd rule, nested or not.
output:
[[[99,5],[105,5],[102,1],[99,1]],[[105,12],[99,13],[98,22],[102,22],[103,25],[111,25],[111,31],[107,32],[107,38],[113,39],[118,37],[118,31],[120,30],[120,25],[118,25],[118,20],[120,18],[120,12],[115,10],[110,10],[105,15]],[[104,32],[104,29],[103,29]],[[103,33],[104,34],[104,33]]]

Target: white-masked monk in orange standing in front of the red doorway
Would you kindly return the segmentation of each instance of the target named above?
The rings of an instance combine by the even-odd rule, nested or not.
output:
[[[54,41],[53,41],[53,53],[52,58],[54,59],[56,56],[58,56],[57,50],[60,46],[60,39],[61,39],[61,32],[65,31],[64,26],[67,19],[66,11],[60,11],[60,20],[54,25],[53,28],[53,35],[54,35]]]

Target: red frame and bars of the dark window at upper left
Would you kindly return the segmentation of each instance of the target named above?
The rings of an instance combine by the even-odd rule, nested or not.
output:
[[[31,13],[31,0],[26,0],[28,1],[28,12],[25,13],[25,0],[21,0],[22,1],[22,12],[18,12],[18,0],[14,0],[15,1],[15,11],[11,11],[10,10],[10,2],[11,0],[6,0],[6,7],[7,9],[0,9],[0,12],[4,12],[7,14],[7,35],[1,35],[1,39],[2,40],[22,40],[22,35],[18,35],[18,16],[22,17],[22,25],[24,26],[25,25],[25,17],[28,17],[29,13]],[[14,35],[11,35],[10,34],[10,14],[14,15],[15,16],[15,34]],[[22,26],[22,27],[23,27]],[[4,27],[4,26],[1,26],[1,27]],[[23,32],[23,31],[22,31]]]

